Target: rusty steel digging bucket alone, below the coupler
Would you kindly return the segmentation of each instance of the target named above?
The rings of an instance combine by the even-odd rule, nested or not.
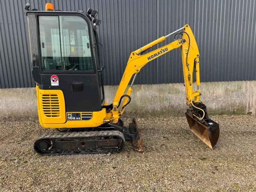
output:
[[[211,119],[203,119],[199,121],[190,109],[185,113],[190,130],[201,139],[208,147],[214,149],[220,135],[219,124]]]

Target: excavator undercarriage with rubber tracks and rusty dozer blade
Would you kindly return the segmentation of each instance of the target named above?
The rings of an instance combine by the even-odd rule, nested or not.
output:
[[[132,146],[143,152],[142,138],[133,119],[128,127],[122,120],[117,124],[106,123],[100,127],[60,129],[61,132],[45,133],[35,140],[34,149],[40,155],[71,155],[119,153],[125,140],[132,140]]]

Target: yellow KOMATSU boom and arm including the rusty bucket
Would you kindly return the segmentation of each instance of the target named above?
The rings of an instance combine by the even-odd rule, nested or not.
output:
[[[175,34],[178,40],[175,40],[167,45],[155,49],[154,51],[142,54],[149,48],[166,40],[167,37]],[[195,37],[191,28],[185,25],[167,36],[162,36],[159,39],[141,47],[140,49],[131,53],[127,66],[124,70],[124,75],[121,79],[117,89],[115,98],[113,100],[111,110],[107,113],[105,120],[111,123],[117,123],[119,117],[124,113],[125,106],[131,100],[132,84],[137,73],[148,62],[170,52],[173,49],[181,48],[182,68],[184,75],[184,85],[186,91],[187,105],[190,109],[186,112],[188,124],[193,133],[196,134],[206,145],[214,148],[219,138],[219,124],[209,119],[206,111],[206,106],[200,100],[200,71],[199,71],[199,51],[196,44]],[[196,87],[193,91],[193,71],[196,75]],[[133,80],[128,87],[130,80]],[[127,89],[128,87],[128,89]],[[126,93],[124,94],[125,90]],[[123,99],[124,98],[124,99]],[[122,102],[123,100],[123,102]],[[122,102],[122,105],[121,105]],[[121,107],[120,107],[121,106]]]

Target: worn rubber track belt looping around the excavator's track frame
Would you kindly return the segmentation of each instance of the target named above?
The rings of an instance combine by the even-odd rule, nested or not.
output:
[[[65,150],[65,151],[60,151],[60,150],[51,150],[49,153],[41,153],[38,151],[36,148],[36,142],[39,142],[42,139],[71,139],[71,138],[77,138],[77,139],[82,139],[82,138],[92,138],[92,137],[119,137],[123,144],[121,145],[120,148],[118,149],[95,149],[95,150],[81,150],[81,149],[76,149],[76,150]],[[67,141],[68,142],[68,141]],[[44,133],[40,135],[34,142],[34,150],[36,153],[40,155],[72,155],[72,154],[100,154],[100,153],[119,153],[124,149],[125,145],[125,138],[124,134],[119,131],[89,131],[89,132],[51,132],[51,133]],[[46,151],[44,151],[46,152]]]

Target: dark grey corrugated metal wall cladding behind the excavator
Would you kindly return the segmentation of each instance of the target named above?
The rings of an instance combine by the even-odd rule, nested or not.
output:
[[[27,19],[23,14],[27,2],[39,10],[44,10],[45,3],[50,2],[63,11],[92,7],[99,12],[106,85],[119,84],[130,52],[187,23],[194,31],[200,51],[201,81],[256,80],[254,0],[0,1],[0,88],[34,86]],[[142,68],[135,83],[179,82],[183,82],[180,50],[174,50]]]

